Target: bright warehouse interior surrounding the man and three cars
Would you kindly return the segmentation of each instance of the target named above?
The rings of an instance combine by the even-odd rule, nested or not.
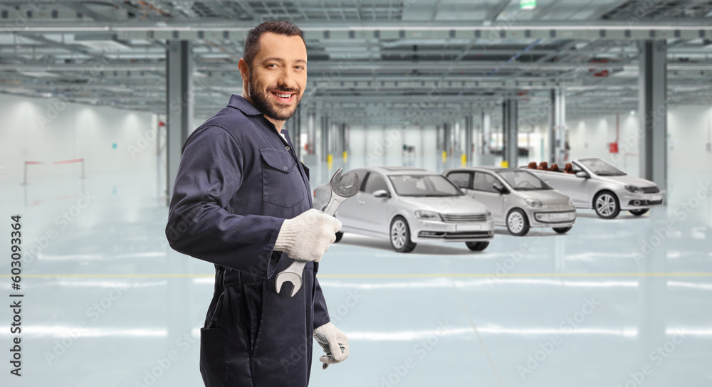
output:
[[[241,92],[246,33],[277,19],[308,50],[285,128],[312,189],[597,157],[665,197],[481,253],[345,234],[319,278],[350,358],[315,354],[310,386],[710,385],[712,1],[9,0],[0,208],[27,306],[3,386],[201,386],[214,267],[169,247],[167,203],[185,139]]]

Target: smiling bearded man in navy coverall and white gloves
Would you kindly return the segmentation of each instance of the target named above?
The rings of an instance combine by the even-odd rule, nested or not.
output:
[[[306,86],[302,32],[287,21],[253,28],[239,61],[242,96],[183,145],[166,235],[175,250],[215,264],[215,292],[201,329],[207,387],[307,386],[313,336],[324,368],[345,360],[348,339],[330,323],[316,273],[341,223],[312,207],[309,170],[283,124]],[[275,278],[307,260],[290,297]],[[323,335],[323,336],[322,336]]]

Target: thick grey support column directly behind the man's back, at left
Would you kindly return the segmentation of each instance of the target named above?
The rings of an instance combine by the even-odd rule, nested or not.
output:
[[[166,205],[173,194],[181,148],[193,119],[193,77],[190,41],[168,41],[166,49]]]

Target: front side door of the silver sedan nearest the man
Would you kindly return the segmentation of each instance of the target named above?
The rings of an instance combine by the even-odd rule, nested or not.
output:
[[[375,191],[386,190],[392,196],[394,192],[386,183],[385,176],[370,172],[366,176],[366,181],[362,184],[362,190],[358,193],[357,208],[354,214],[358,228],[377,233],[388,233],[389,203],[392,198],[376,198]]]

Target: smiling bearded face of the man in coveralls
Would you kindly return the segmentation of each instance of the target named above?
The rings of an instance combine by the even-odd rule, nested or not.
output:
[[[299,36],[264,33],[251,65],[240,59],[242,96],[278,129],[292,117],[307,83],[307,50]]]

